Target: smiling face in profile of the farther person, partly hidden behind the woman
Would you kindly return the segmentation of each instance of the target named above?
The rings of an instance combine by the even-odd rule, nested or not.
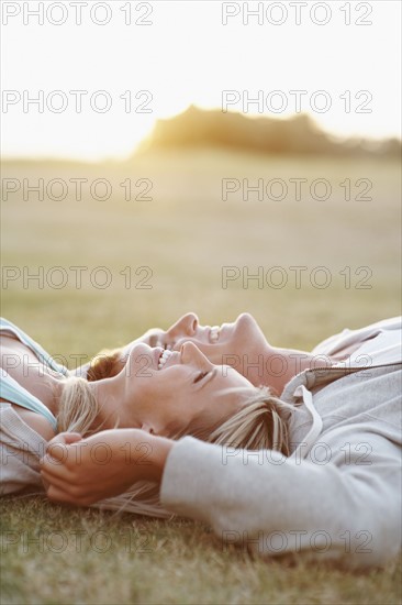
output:
[[[149,346],[174,351],[180,350],[185,342],[193,342],[211,362],[234,366],[236,359],[263,351],[267,344],[263,331],[249,314],[239,315],[233,323],[213,327],[200,326],[196,314],[187,314],[168,330],[149,330],[139,340]]]

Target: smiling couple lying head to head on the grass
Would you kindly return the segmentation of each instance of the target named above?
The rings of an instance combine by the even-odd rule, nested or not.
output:
[[[0,339],[2,494],[188,516],[270,556],[398,553],[401,318],[305,352],[188,314],[75,373],[7,320]]]

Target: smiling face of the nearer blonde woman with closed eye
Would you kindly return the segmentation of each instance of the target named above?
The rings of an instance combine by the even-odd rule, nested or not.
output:
[[[213,427],[236,414],[250,395],[246,378],[211,363],[192,342],[177,349],[178,343],[175,351],[137,343],[122,372],[111,378],[125,426],[161,436],[194,424]]]

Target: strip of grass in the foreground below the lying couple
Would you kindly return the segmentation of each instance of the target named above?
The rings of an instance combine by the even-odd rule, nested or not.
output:
[[[1,506],[2,604],[397,604],[401,561],[366,573],[252,559],[188,520]]]

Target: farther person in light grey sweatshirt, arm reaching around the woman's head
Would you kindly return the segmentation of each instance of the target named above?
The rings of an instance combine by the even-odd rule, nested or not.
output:
[[[382,566],[398,554],[401,318],[344,330],[310,353],[271,346],[247,315],[210,328],[188,314],[145,338],[170,346],[172,361],[177,350],[197,344],[210,360],[202,369],[210,385],[213,369],[228,375],[227,365],[212,361],[231,361],[249,383],[272,384],[280,399],[255,391],[255,403],[213,429],[215,443],[141,429],[87,439],[60,433],[42,461],[49,498],[89,505],[152,481],[167,510],[206,522],[223,547],[305,553],[349,569]],[[135,346],[120,351],[114,364]],[[174,370],[169,360],[165,376]],[[98,448],[107,449],[108,464],[96,459]]]

